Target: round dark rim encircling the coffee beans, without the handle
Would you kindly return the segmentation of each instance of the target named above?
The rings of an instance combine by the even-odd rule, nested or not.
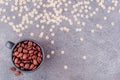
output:
[[[20,41],[18,41],[17,43],[15,43],[15,45],[12,47],[11,54],[13,54],[13,50],[15,49],[16,45],[19,44],[19,43],[21,43],[21,42],[23,42],[23,41],[32,41],[32,42],[34,42],[35,44],[37,44],[37,45],[40,47],[40,49],[41,49],[41,54],[42,54],[42,61],[39,63],[39,65],[37,66],[36,69],[34,69],[34,70],[28,70],[28,71],[27,71],[27,70],[25,71],[25,70],[22,70],[22,69],[18,68],[18,67],[15,65],[15,63],[13,62],[13,56],[11,55],[12,63],[13,63],[13,65],[14,65],[18,70],[20,70],[20,71],[23,71],[23,72],[34,72],[34,71],[38,70],[38,69],[40,68],[40,66],[43,64],[44,57],[45,57],[45,55],[44,55],[44,49],[43,49],[43,48],[41,47],[41,45],[40,45],[37,41],[35,41],[35,40],[23,39],[23,40],[20,40]]]

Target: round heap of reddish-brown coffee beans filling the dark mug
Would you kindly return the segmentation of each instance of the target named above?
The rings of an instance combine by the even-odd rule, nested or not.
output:
[[[42,57],[40,46],[29,40],[18,43],[12,52],[13,63],[23,71],[35,70],[42,62]]]

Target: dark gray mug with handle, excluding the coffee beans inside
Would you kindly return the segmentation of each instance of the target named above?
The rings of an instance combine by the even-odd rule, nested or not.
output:
[[[31,42],[33,42],[33,43],[35,43],[37,46],[39,46],[39,48],[41,49],[41,54],[42,54],[42,60],[41,60],[41,62],[38,64],[38,66],[34,69],[34,70],[22,70],[22,69],[20,69],[20,68],[18,68],[16,65],[15,65],[15,63],[13,62],[13,51],[14,51],[14,49],[16,48],[16,46],[19,44],[19,43],[22,43],[22,42],[24,42],[24,41],[31,41]],[[12,59],[12,63],[13,63],[13,65],[17,68],[17,69],[19,69],[20,71],[25,71],[25,72],[27,72],[27,71],[29,71],[29,72],[33,72],[33,71],[36,71],[38,68],[40,68],[40,66],[42,65],[42,63],[43,63],[43,60],[44,60],[44,50],[43,50],[43,48],[36,42],[36,41],[33,41],[33,40],[22,40],[22,41],[19,41],[18,43],[13,43],[13,42],[11,42],[11,41],[7,41],[6,42],[6,45],[5,45],[7,48],[9,48],[9,49],[12,49],[12,54],[11,54],[11,59]]]

